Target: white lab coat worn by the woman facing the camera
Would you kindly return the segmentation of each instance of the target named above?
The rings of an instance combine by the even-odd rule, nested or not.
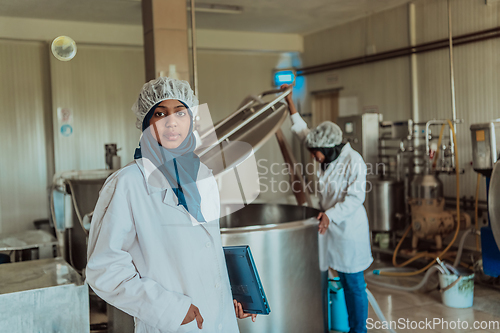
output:
[[[136,333],[239,332],[211,170],[200,164],[203,224],[177,205],[154,170],[140,159],[106,180],[91,223],[87,283],[135,317]],[[191,304],[204,318],[202,330],[196,320],[181,326]]]

